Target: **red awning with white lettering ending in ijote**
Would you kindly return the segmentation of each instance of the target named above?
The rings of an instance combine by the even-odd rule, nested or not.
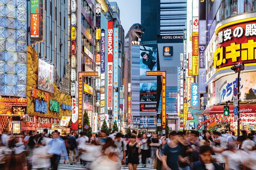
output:
[[[203,111],[203,115],[207,114],[223,114],[225,105],[212,106]],[[229,104],[229,113],[234,113],[233,104]],[[241,103],[240,104],[240,112],[241,114],[245,113],[256,113],[256,103]]]

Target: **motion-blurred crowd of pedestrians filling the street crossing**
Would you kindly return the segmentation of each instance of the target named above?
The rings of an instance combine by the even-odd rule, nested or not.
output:
[[[92,170],[120,170],[126,164],[136,170],[138,164],[157,170],[247,170],[256,169],[255,131],[241,132],[172,131],[169,134],[126,135],[104,130],[88,137],[61,136],[58,131],[42,134],[30,131],[3,134],[0,140],[0,169],[57,170],[64,164],[82,164]]]

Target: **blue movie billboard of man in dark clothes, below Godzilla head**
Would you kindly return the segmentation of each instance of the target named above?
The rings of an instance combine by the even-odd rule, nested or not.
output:
[[[140,75],[157,71],[157,47],[140,46]]]

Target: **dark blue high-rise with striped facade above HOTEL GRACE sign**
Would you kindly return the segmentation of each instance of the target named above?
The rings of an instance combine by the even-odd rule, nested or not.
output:
[[[141,24],[146,30],[141,41],[156,41],[157,35],[183,35],[186,15],[186,0],[141,0]]]

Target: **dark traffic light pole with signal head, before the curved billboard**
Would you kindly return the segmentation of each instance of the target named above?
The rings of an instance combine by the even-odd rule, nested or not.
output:
[[[240,71],[244,70],[244,65],[243,63],[241,64],[240,62],[234,66],[231,67],[231,70],[233,70],[235,73],[238,73],[238,76],[237,76],[237,109],[238,109],[238,119],[237,119],[237,136],[240,135],[240,100],[239,100],[239,97],[240,97],[240,89],[239,89],[239,86],[240,86]]]

